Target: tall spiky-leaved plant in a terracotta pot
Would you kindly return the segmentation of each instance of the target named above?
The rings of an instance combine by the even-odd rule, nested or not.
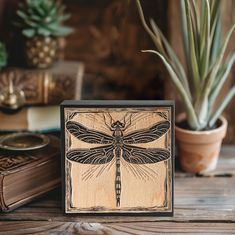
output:
[[[147,24],[136,1],[143,26],[156,46],[143,52],[161,59],[185,107],[175,128],[181,167],[194,173],[213,170],[227,130],[221,114],[235,95],[233,86],[222,102],[217,99],[235,61],[234,52],[224,58],[235,25],[221,43],[220,0],[181,0],[184,68],[155,22],[150,19]]]

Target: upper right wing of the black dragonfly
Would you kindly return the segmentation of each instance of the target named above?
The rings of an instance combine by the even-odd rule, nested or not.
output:
[[[150,128],[134,131],[124,136],[125,144],[149,143],[164,135],[170,128],[169,121],[162,121]]]

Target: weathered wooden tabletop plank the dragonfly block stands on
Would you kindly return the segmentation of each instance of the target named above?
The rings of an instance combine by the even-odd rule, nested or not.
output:
[[[235,179],[233,177],[195,177],[175,180],[174,217],[65,216],[60,208],[60,190],[39,201],[0,214],[0,221],[66,222],[233,222],[235,223]],[[57,197],[57,198],[55,198]]]

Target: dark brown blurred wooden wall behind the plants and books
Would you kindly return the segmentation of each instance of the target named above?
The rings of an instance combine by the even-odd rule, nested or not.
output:
[[[19,0],[0,0],[0,39],[11,50],[12,65],[18,57],[18,40],[9,23]],[[75,28],[62,42],[67,60],[83,61],[86,74],[83,99],[175,99],[177,112],[182,111],[164,66],[154,55],[141,49],[154,48],[144,31],[135,1],[127,0],[64,0],[72,14],[67,22]],[[180,17],[178,0],[142,1],[146,18],[152,17],[171,41],[180,58]],[[235,21],[235,1],[222,1],[224,31]],[[234,48],[234,39],[230,48]],[[223,91],[234,82],[234,70]],[[225,113],[229,120],[227,143],[235,143],[235,100]]]

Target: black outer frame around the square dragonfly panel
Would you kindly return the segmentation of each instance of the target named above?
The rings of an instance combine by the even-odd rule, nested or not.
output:
[[[64,109],[65,108],[151,108],[151,107],[169,107],[171,109],[171,166],[172,166],[172,183],[171,183],[171,198],[172,198],[172,208],[171,211],[168,212],[141,212],[141,213],[135,213],[135,212],[94,212],[97,215],[125,215],[125,216],[173,216],[174,215],[174,169],[175,169],[175,131],[174,131],[174,125],[175,125],[175,102],[174,101],[138,101],[138,100],[131,100],[131,101],[125,101],[125,100],[112,100],[112,101],[103,101],[103,100],[66,100],[60,105],[60,115],[61,115],[61,173],[62,173],[62,208],[64,213],[66,213],[65,209],[65,195],[66,195],[66,188],[65,188],[65,123],[64,123]],[[80,215],[91,215],[93,213],[69,213],[68,215],[74,215],[74,214],[80,214]]]

